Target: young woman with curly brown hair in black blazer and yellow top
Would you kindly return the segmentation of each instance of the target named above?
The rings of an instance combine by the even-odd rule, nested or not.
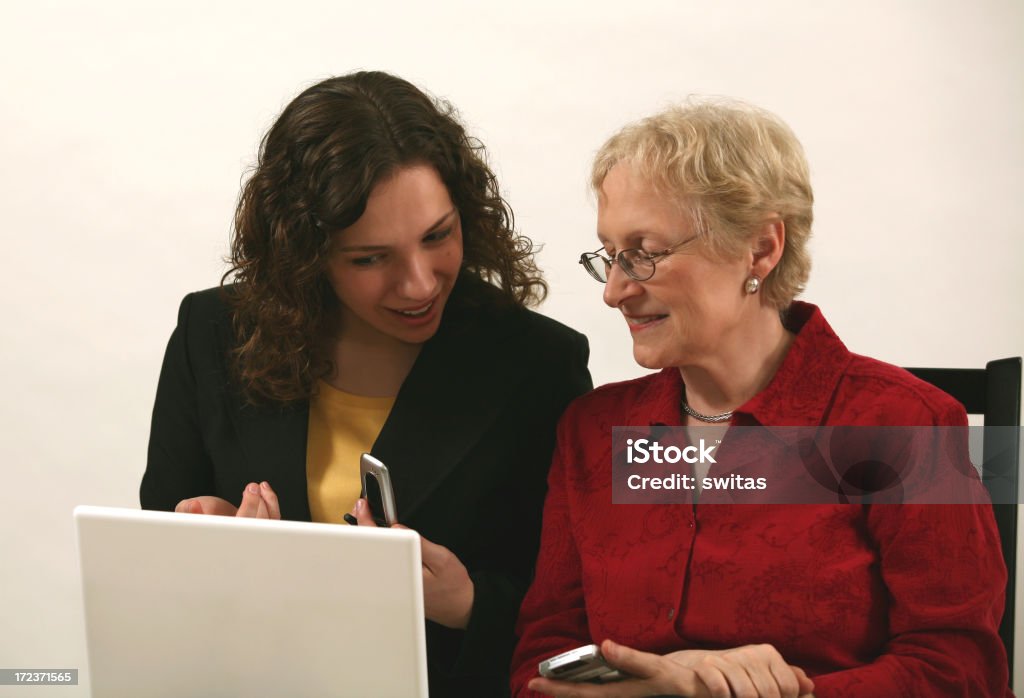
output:
[[[483,147],[399,78],[305,90],[245,184],[233,282],[185,297],[147,509],[338,522],[358,456],[423,538],[431,695],[508,691],[555,424],[591,387]],[[360,513],[365,519],[365,513]]]

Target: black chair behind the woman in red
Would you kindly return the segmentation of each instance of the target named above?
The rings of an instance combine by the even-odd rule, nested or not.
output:
[[[959,400],[969,415],[984,415],[986,427],[1021,424],[1021,357],[989,361],[984,368],[907,368],[911,374]],[[992,496],[995,524],[1007,562],[1007,608],[999,638],[1014,682],[1014,617],[1017,586],[1017,481],[1020,439],[1017,429],[985,430],[982,480]]]

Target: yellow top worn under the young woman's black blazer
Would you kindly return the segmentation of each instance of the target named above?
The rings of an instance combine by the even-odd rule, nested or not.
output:
[[[393,397],[352,395],[318,383],[309,400],[306,491],[313,521],[341,523],[359,497],[359,455],[384,428]]]

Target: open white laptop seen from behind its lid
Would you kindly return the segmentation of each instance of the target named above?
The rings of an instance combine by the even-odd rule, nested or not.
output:
[[[412,531],[75,509],[92,695],[427,695]]]

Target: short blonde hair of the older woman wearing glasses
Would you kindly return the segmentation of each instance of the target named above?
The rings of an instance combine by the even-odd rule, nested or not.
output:
[[[814,193],[804,149],[778,117],[734,100],[690,99],[611,136],[594,159],[595,192],[620,163],[679,204],[721,258],[741,254],[755,229],[780,217],[785,248],[762,293],[784,309],[804,290]]]

